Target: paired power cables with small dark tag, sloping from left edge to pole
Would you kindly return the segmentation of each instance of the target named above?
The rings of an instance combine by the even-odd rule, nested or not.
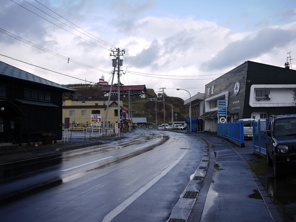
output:
[[[78,62],[76,60],[72,60],[72,59],[70,59],[70,58],[68,58],[68,57],[66,57],[64,55],[60,55],[60,54],[58,54],[56,52],[53,52],[53,51],[51,51],[49,49],[43,48],[42,46],[36,45],[35,43],[32,43],[32,42],[30,42],[30,41],[28,41],[26,39],[23,39],[23,38],[21,38],[21,37],[19,37],[17,35],[14,35],[14,34],[8,32],[8,31],[6,31],[6,30],[4,30],[2,28],[0,28],[0,32],[3,33],[3,34],[5,34],[5,35],[8,35],[8,36],[10,36],[10,37],[12,37],[14,39],[17,39],[17,40],[19,40],[19,41],[21,41],[23,43],[26,43],[26,44],[31,45],[31,46],[33,46],[35,48],[38,48],[38,49],[40,49],[42,51],[45,51],[45,52],[47,52],[47,53],[49,53],[51,55],[55,55],[55,56],[57,56],[57,57],[59,57],[61,59],[68,60],[68,61],[70,61],[72,63],[78,64],[78,65],[81,65],[81,66],[84,66],[84,67],[87,67],[87,68],[91,68],[91,69],[94,69],[94,70],[97,70],[97,71],[100,71],[100,72],[111,73],[111,72],[108,72],[108,71],[105,71],[105,70],[102,70],[102,69],[98,69],[98,68],[92,67],[90,65],[87,65],[87,64]]]

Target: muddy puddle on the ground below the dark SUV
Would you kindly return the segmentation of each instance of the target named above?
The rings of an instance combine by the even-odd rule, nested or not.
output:
[[[265,186],[267,193],[273,202],[280,204],[296,203],[296,179],[275,177],[259,177],[262,185]]]

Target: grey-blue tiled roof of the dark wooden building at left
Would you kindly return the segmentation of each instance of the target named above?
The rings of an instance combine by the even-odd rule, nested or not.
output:
[[[26,80],[29,82],[35,82],[35,83],[39,83],[39,84],[43,84],[43,85],[48,85],[48,86],[52,86],[55,88],[64,89],[65,92],[75,92],[76,91],[76,89],[51,82],[49,80],[43,79],[39,76],[35,76],[29,72],[26,72],[24,70],[21,70],[19,68],[16,68],[14,66],[11,66],[9,64],[6,64],[6,63],[0,61],[0,76],[1,75],[9,76],[9,77],[15,78],[15,79]]]

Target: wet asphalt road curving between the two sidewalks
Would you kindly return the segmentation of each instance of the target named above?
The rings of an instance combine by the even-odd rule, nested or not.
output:
[[[0,221],[166,221],[202,151],[191,136],[140,129],[106,145],[0,165]]]

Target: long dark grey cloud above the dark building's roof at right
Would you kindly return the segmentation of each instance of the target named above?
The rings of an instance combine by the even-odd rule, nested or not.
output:
[[[201,67],[204,70],[215,70],[234,66],[268,53],[276,47],[284,47],[295,39],[295,30],[263,29],[253,39],[246,37],[229,43],[211,60],[202,63]]]

